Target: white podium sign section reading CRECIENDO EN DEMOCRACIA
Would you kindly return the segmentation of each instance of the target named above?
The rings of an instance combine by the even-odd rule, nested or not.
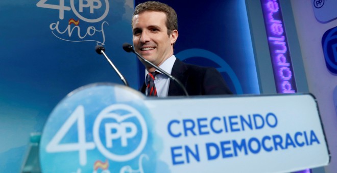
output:
[[[164,106],[166,105],[166,106]],[[327,165],[311,95],[149,100],[172,172],[290,172]]]

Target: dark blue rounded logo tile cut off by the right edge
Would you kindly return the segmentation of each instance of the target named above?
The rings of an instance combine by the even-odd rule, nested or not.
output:
[[[326,31],[322,37],[322,47],[326,67],[337,74],[337,27]]]

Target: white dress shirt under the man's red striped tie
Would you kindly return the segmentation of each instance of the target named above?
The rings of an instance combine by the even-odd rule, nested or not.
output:
[[[176,61],[176,56],[172,55],[166,61],[164,61],[164,63],[161,64],[159,67],[163,69],[165,72],[167,72],[168,74],[171,74],[172,67],[175,61]],[[156,71],[159,72],[158,70]],[[145,70],[145,84],[148,84],[148,78],[147,78],[148,74],[149,72]],[[167,97],[168,86],[170,86],[170,78],[168,78],[166,75],[161,74],[161,73],[157,74],[155,76],[155,85],[156,85],[156,90],[157,90],[157,96]],[[147,90],[145,90],[145,94],[147,95]]]

